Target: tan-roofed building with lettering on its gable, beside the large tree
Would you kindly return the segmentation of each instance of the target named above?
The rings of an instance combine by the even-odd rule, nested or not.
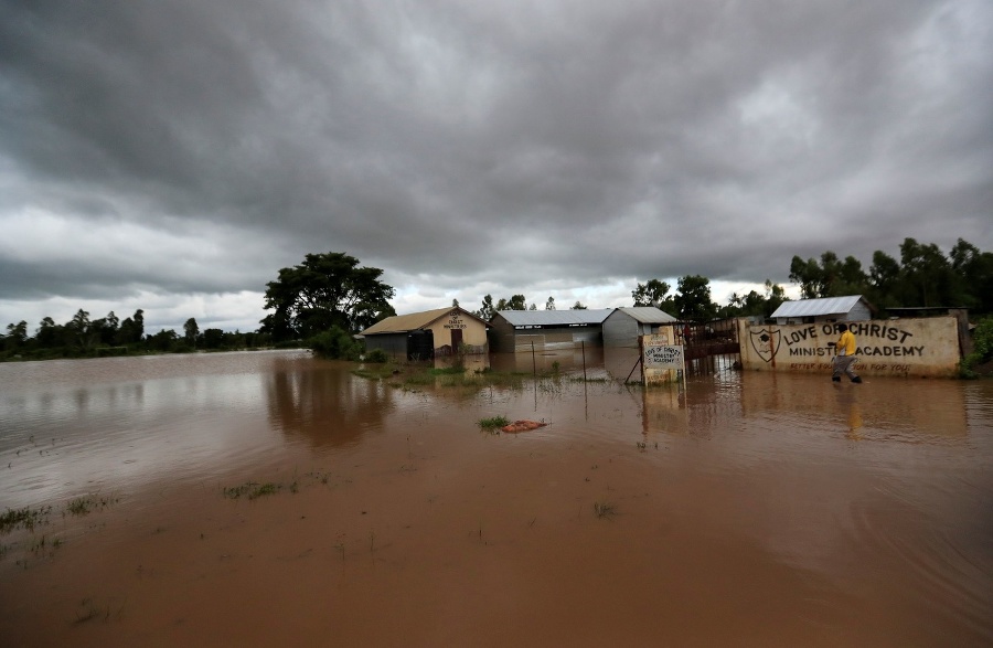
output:
[[[365,350],[382,349],[408,360],[427,360],[460,350],[485,353],[487,322],[458,306],[410,315],[397,315],[377,321],[360,333]]]

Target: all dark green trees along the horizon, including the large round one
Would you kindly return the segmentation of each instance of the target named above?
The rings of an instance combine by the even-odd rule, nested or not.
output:
[[[798,284],[803,298],[863,295],[885,317],[900,307],[964,307],[973,315],[993,312],[993,253],[982,252],[959,238],[948,255],[932,244],[905,238],[899,261],[876,251],[868,272],[853,256],[844,259],[826,251],[820,258],[793,256],[790,280]],[[271,311],[254,332],[234,333],[221,329],[200,330],[194,318],[186,320],[182,333],[163,329],[145,334],[145,314],[119,320],[111,311],[90,319],[79,309],[72,320],[58,325],[45,317],[32,336],[28,322],[7,327],[0,336],[0,360],[95,357],[126,353],[162,353],[233,350],[309,343],[323,354],[342,358],[362,352],[354,334],[373,323],[396,315],[389,305],[395,296],[383,283],[383,270],[363,267],[344,253],[308,254],[303,263],[281,268],[266,284],[265,309]],[[732,295],[725,305],[711,297],[709,279],[685,275],[675,290],[661,279],[637,284],[631,291],[632,306],[656,306],[684,321],[709,321],[729,317],[768,318],[787,300],[786,289],[767,279],[765,290]],[[458,301],[453,301],[458,306]],[[549,296],[544,308],[554,310]],[[576,301],[572,309],[587,306]],[[473,312],[489,321],[499,310],[536,310],[523,295],[493,300],[483,297]]]

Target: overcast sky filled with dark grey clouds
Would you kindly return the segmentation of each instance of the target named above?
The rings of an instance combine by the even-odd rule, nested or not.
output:
[[[0,326],[258,328],[308,253],[398,314],[726,304],[993,251],[989,0],[0,0]]]

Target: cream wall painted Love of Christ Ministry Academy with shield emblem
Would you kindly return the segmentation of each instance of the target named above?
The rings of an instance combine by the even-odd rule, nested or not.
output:
[[[855,371],[864,375],[952,378],[959,372],[953,317],[846,322],[858,344]],[[749,325],[738,320],[741,365],[760,371],[830,373],[837,341],[833,323]]]

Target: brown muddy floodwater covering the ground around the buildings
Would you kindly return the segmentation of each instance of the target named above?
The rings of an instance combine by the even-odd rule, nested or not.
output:
[[[993,383],[632,360],[0,364],[0,645],[993,645]]]

